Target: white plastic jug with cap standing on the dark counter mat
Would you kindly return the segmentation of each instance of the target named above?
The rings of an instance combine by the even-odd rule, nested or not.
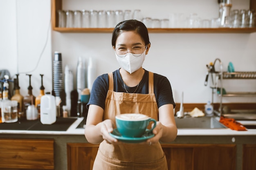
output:
[[[40,101],[40,121],[42,124],[53,124],[56,121],[55,97],[46,92]]]

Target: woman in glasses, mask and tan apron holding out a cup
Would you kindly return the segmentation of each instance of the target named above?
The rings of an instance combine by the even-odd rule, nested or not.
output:
[[[121,68],[97,77],[88,103],[85,137],[92,144],[100,143],[93,170],[167,170],[159,141],[171,142],[177,136],[175,103],[168,79],[142,68],[150,49],[146,26],[137,20],[120,22],[112,46]],[[122,113],[156,119],[155,136],[139,144],[112,137],[115,115]]]

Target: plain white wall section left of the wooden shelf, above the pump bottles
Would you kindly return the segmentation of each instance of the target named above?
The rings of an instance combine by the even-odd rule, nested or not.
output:
[[[45,91],[52,91],[50,0],[0,0],[0,70],[19,76],[20,93],[39,94],[40,74]],[[49,31],[47,29],[49,28]],[[47,37],[48,36],[48,37]]]

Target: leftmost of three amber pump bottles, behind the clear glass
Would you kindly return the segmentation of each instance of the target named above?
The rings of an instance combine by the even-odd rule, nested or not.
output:
[[[23,118],[24,116],[24,97],[20,95],[20,86],[18,74],[17,78],[13,79],[15,94],[11,97],[11,100],[16,100],[18,102],[18,118]]]

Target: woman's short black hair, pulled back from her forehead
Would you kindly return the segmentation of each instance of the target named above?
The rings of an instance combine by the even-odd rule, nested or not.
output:
[[[116,46],[117,38],[122,31],[135,31],[141,36],[141,39],[144,41],[145,45],[150,44],[148,29],[143,24],[143,22],[140,22],[138,20],[125,20],[119,22],[115,27],[112,33],[112,46]]]

